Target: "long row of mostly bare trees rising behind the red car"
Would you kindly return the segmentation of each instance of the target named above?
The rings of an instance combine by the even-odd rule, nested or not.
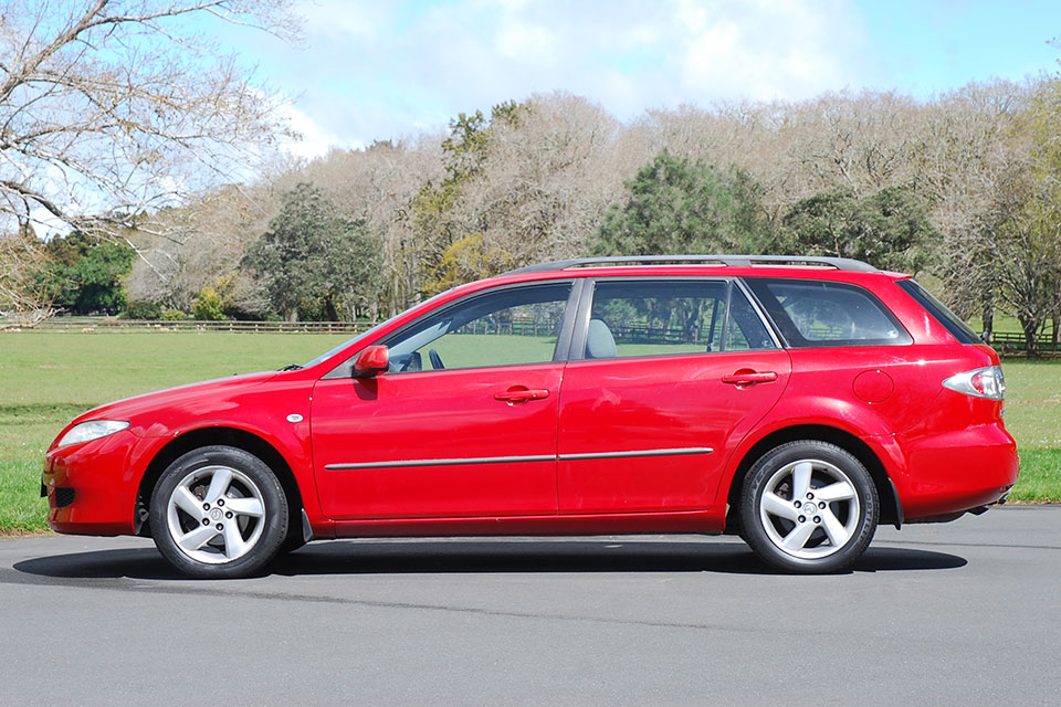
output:
[[[1010,314],[1034,351],[1061,318],[1059,134],[1047,76],[627,124],[535,95],[162,210],[185,236],[130,236],[126,286],[185,312],[206,294],[223,316],[376,318],[543,260],[837,255],[922,276],[988,335]]]

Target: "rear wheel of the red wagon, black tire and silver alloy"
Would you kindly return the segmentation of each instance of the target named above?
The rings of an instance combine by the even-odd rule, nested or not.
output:
[[[879,517],[865,466],[817,440],[767,452],[748,472],[740,496],[744,540],[767,564],[801,574],[850,569],[873,539]]]

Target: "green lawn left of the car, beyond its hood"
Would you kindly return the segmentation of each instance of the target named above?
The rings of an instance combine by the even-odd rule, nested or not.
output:
[[[349,335],[0,333],[0,534],[45,528],[44,450],[112,400],[306,362]]]

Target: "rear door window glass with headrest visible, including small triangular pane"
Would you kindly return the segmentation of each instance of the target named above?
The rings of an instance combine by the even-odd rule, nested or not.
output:
[[[722,281],[614,281],[593,288],[585,357],[629,358],[773,348],[752,305]]]

